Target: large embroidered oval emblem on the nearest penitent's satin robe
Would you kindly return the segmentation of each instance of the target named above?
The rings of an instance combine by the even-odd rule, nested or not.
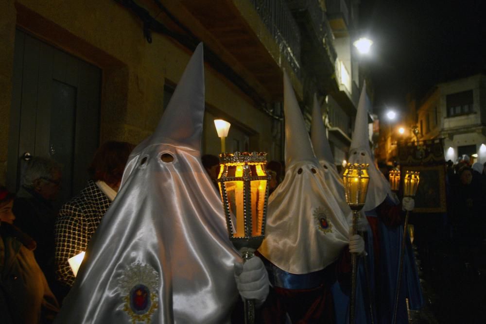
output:
[[[158,307],[158,273],[148,264],[135,263],[118,280],[123,311],[132,323],[150,323]]]

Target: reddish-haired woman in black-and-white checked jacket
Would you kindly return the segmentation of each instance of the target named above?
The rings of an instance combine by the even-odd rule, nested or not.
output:
[[[68,259],[86,251],[89,239],[115,199],[133,148],[130,143],[116,141],[100,146],[88,168],[87,186],[59,211],[55,222],[56,278],[68,287],[74,282]]]

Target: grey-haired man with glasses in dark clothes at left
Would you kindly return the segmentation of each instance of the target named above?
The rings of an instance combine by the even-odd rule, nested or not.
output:
[[[47,282],[54,283],[54,220],[53,206],[61,184],[61,166],[52,159],[34,157],[27,162],[22,187],[14,200],[15,224],[37,242],[35,259]]]

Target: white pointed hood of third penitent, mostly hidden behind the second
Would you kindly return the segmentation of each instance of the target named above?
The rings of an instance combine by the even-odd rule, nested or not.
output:
[[[311,140],[315,157],[319,160],[319,164],[324,168],[324,180],[326,181],[330,192],[341,207],[341,210],[347,216],[348,222],[350,222],[352,212],[346,202],[343,180],[334,164],[328,136],[326,135],[324,123],[322,122],[321,108],[319,107],[317,96],[315,94],[312,109]]]

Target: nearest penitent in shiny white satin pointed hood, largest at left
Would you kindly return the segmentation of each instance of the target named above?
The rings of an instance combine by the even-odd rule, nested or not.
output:
[[[226,323],[238,297],[220,198],[200,161],[203,47],[128,160],[58,323]]]

